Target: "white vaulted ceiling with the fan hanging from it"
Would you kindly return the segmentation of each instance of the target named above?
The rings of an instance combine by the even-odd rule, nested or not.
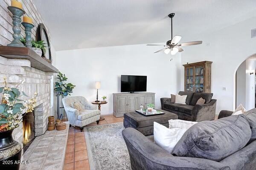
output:
[[[34,0],[56,51],[204,34],[256,15],[256,0]],[[196,37],[195,37],[195,40]]]

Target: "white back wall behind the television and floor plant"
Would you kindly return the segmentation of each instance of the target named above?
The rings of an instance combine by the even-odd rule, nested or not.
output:
[[[156,108],[160,108],[161,97],[180,90],[180,54],[170,61],[170,54],[153,54],[159,49],[142,44],[57,51],[56,67],[76,85],[72,95],[90,102],[96,99],[95,82],[101,81],[99,96],[108,97],[102,114],[113,113],[113,93],[120,92],[121,74],[147,76],[147,91],[156,93]]]

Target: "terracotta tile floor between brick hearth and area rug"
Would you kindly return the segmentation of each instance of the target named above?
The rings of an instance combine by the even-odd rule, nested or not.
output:
[[[99,125],[123,122],[123,117],[116,118],[113,115],[105,115],[105,120],[99,121]],[[97,126],[96,122],[87,126]],[[84,132],[79,127],[70,127],[67,139],[67,149],[64,161],[64,170],[90,170]]]

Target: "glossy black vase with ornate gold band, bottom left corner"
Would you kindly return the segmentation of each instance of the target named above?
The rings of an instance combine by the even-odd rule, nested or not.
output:
[[[0,132],[0,170],[19,170],[21,157],[21,145],[13,140],[12,130]],[[15,163],[16,162],[16,163]]]

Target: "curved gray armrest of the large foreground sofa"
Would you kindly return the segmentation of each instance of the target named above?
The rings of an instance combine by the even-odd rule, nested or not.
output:
[[[173,156],[131,127],[122,130],[122,136],[132,170],[230,170],[216,161]]]

